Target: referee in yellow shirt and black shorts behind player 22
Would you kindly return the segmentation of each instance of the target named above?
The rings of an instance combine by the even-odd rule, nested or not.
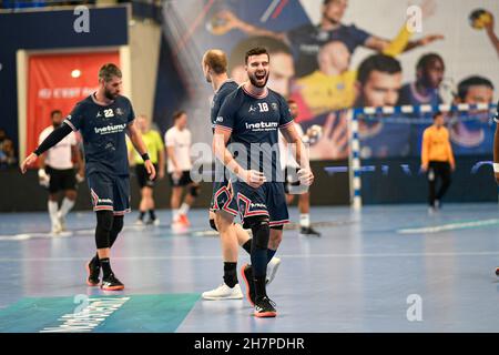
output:
[[[151,162],[154,164],[154,168],[159,172],[159,179],[163,179],[164,176],[164,144],[161,139],[160,133],[154,130],[151,130],[151,124],[147,118],[143,114],[136,118],[136,125],[142,135],[142,141],[144,142],[149,156],[151,158]],[[139,186],[141,187],[141,202],[139,204],[139,219],[136,220],[136,225],[144,224],[145,213],[149,212],[149,220],[145,224],[154,224],[159,225],[160,220],[156,217],[154,212],[154,180],[149,179],[147,170],[144,165],[144,160],[139,154],[139,152],[133,148],[132,143],[128,141],[129,146],[129,160],[132,165],[135,165],[135,174],[139,182]]]

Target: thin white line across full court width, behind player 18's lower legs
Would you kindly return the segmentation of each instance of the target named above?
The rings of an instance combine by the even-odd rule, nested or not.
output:
[[[442,256],[496,256],[495,252],[457,252],[457,253],[359,253],[359,254],[281,254],[286,258],[358,258],[358,257],[442,257]],[[82,262],[89,257],[0,257],[0,263],[10,262]],[[204,256],[116,256],[114,261],[162,261],[162,260],[220,260],[220,255]]]

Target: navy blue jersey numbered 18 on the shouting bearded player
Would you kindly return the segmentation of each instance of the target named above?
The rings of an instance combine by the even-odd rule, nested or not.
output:
[[[244,87],[225,99],[216,118],[216,126],[232,133],[231,151],[237,163],[264,172],[267,181],[275,181],[281,173],[278,129],[292,123],[282,95],[268,89],[262,97],[254,97]]]

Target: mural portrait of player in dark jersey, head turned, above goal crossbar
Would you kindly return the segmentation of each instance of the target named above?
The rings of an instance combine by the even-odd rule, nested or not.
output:
[[[445,69],[444,59],[437,53],[422,55],[416,64],[416,81],[401,88],[398,104],[440,104],[442,100],[438,88],[444,80]]]

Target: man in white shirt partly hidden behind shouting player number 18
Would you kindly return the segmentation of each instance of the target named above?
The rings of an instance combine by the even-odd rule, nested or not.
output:
[[[298,116],[298,105],[294,100],[288,100],[289,111],[293,119]],[[296,132],[302,138],[302,141],[306,143],[308,135],[304,134],[299,123],[294,123]],[[279,133],[279,154],[281,154],[281,168],[284,171],[284,191],[286,192],[286,202],[291,204],[298,194],[298,210],[299,210],[299,234],[302,235],[316,235],[320,236],[320,233],[315,231],[310,225],[310,193],[308,191],[302,191],[303,187],[298,180],[299,164],[293,154],[293,150],[287,145],[283,134]]]

